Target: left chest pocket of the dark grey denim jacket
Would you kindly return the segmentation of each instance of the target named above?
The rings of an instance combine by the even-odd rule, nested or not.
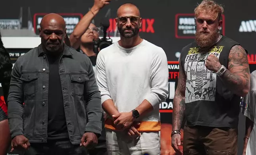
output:
[[[21,74],[20,79],[23,81],[23,92],[25,95],[33,95],[37,93],[38,72],[23,73]]]

